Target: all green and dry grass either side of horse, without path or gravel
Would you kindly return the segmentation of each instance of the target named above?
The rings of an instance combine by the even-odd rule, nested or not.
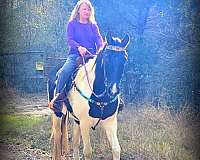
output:
[[[118,115],[118,137],[122,160],[198,160],[200,138],[199,115],[190,109],[173,113],[143,105],[127,107]],[[3,143],[23,143],[50,152],[49,116],[0,116],[0,138]],[[95,160],[112,159],[105,132],[91,131]]]

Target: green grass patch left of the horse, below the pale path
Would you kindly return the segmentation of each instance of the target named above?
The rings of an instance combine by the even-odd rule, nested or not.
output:
[[[0,115],[1,143],[24,144],[47,151],[50,128],[48,116]]]

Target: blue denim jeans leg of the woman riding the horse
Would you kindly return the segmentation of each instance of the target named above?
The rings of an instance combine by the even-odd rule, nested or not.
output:
[[[65,64],[60,68],[56,74],[57,84],[56,84],[56,94],[61,93],[65,88],[65,85],[69,82],[72,73],[76,70],[77,67],[77,58],[79,55],[70,54],[67,57]]]

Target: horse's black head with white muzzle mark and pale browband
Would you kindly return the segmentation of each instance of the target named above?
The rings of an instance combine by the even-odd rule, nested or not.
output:
[[[125,62],[127,61],[127,46],[130,38],[126,35],[123,39],[106,36],[107,44],[103,51],[104,84],[108,95],[115,96],[119,93],[119,83],[122,78]]]

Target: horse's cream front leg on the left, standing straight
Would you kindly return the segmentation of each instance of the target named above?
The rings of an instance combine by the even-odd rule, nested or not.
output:
[[[81,135],[83,140],[83,154],[85,160],[91,160],[92,158],[92,147],[90,143],[90,125],[88,122],[82,122],[80,123],[80,129],[81,129]]]

